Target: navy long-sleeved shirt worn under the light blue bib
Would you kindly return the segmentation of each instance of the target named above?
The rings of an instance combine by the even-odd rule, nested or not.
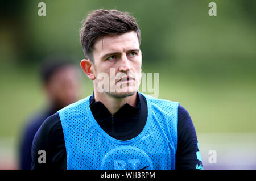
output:
[[[123,105],[113,116],[101,102],[90,97],[90,110],[100,127],[118,140],[130,140],[142,132],[147,120],[147,102],[137,93],[136,106]],[[180,104],[178,107],[178,144],[176,169],[195,170],[202,164],[195,127],[189,113]],[[38,151],[46,151],[46,163],[38,163]],[[196,167],[197,166],[197,167]],[[32,144],[32,169],[67,169],[67,153],[59,113],[49,116],[34,137]]]

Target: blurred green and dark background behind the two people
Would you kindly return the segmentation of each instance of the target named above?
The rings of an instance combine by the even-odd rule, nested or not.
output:
[[[46,3],[46,16],[38,16],[39,2]],[[210,2],[217,16],[208,15]],[[159,73],[159,98],[187,109],[202,147],[200,137],[213,133],[250,133],[255,142],[255,7],[256,1],[242,0],[1,1],[0,157],[10,155],[10,163],[0,161],[0,169],[17,168],[22,129],[46,104],[39,63],[58,53],[79,66],[81,20],[101,8],[137,19],[142,71]],[[85,75],[81,84],[81,98],[92,94]]]

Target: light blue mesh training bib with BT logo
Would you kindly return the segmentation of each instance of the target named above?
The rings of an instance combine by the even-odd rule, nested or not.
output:
[[[146,125],[137,137],[126,141],[101,129],[90,111],[89,97],[59,110],[67,169],[175,169],[179,103],[144,96]]]

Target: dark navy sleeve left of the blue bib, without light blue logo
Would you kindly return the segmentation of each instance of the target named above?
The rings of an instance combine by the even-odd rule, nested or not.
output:
[[[58,113],[49,116],[32,142],[32,169],[66,169],[67,155]]]

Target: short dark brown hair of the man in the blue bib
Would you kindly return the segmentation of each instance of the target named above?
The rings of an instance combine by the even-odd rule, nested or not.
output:
[[[93,62],[94,43],[105,35],[119,35],[129,31],[135,31],[141,45],[141,30],[135,18],[128,12],[118,10],[94,10],[82,21],[80,41],[86,58]]]

